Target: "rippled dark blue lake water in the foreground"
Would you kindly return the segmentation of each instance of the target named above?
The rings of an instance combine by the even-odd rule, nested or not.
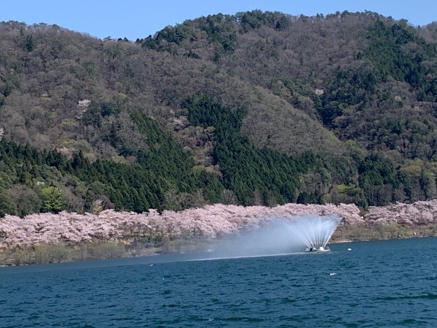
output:
[[[330,247],[0,268],[0,327],[437,327],[437,238]]]

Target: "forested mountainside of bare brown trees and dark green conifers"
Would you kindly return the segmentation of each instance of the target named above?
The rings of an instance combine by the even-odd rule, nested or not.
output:
[[[254,10],[135,41],[0,23],[0,217],[366,210],[435,198],[436,165],[436,22]]]

